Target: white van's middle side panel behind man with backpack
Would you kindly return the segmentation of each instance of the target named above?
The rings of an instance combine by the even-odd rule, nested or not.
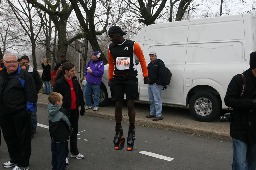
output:
[[[183,76],[186,61],[187,35],[189,21],[153,24],[146,27],[143,54],[146,64],[150,62],[149,53],[156,51],[157,58],[164,61],[172,72],[170,87],[162,91],[162,102],[183,104]],[[143,83],[140,71],[140,100],[148,101],[148,85]]]

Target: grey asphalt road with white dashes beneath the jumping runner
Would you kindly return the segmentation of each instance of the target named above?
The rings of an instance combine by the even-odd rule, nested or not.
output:
[[[37,108],[38,123],[48,126],[46,107]],[[122,123],[127,138],[128,123]],[[232,142],[136,125],[133,151],[113,147],[115,121],[84,115],[79,117],[78,149],[84,159],[69,158],[69,170],[76,169],[231,169]],[[125,139],[126,140],[126,139]],[[126,142],[126,141],[125,141]],[[158,154],[156,157],[149,155]],[[163,157],[165,156],[165,157]],[[167,160],[164,160],[167,159]],[[9,161],[2,136],[0,163]],[[51,139],[47,128],[38,126],[32,139],[30,169],[51,169]],[[0,169],[6,169],[2,166]]]

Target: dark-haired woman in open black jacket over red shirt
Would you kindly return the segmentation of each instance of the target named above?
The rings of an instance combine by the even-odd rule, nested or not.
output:
[[[62,70],[58,70],[54,78],[53,92],[58,92],[63,96],[63,104],[68,113],[69,119],[73,127],[73,133],[70,136],[70,157],[76,159],[84,158],[84,155],[79,153],[77,148],[77,133],[78,133],[78,108],[81,106],[80,115],[83,116],[84,109],[84,95],[75,74],[75,65],[66,62],[62,65]],[[68,145],[66,146],[66,164],[68,161]]]

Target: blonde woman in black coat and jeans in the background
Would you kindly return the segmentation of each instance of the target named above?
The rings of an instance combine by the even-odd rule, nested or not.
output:
[[[43,94],[51,94],[51,63],[49,58],[45,58],[44,61],[42,61],[42,67],[43,67],[43,74],[42,79],[44,81],[44,93]]]

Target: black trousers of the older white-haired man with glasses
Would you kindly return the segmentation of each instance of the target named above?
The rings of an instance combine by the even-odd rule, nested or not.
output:
[[[31,125],[29,113],[19,112],[1,115],[0,124],[10,155],[10,162],[27,167],[31,155]]]

